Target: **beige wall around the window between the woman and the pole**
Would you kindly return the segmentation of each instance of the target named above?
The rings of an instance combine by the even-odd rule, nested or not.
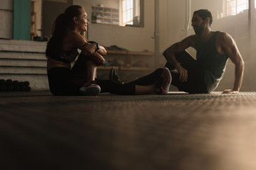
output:
[[[92,5],[106,3],[103,5],[109,7],[107,4],[111,2],[113,3],[110,0],[102,1],[102,3],[95,0],[74,0],[73,4],[83,6],[91,18]],[[154,39],[151,38],[154,36],[154,0],[144,1],[144,16],[144,28],[90,23],[88,38],[105,46],[117,45],[131,51],[149,50],[154,52]]]

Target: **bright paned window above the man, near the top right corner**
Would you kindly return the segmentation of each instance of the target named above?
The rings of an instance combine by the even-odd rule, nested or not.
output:
[[[249,0],[250,1],[250,0]],[[238,13],[249,8],[248,0],[226,0],[226,15],[235,16]],[[256,0],[255,0],[256,3]]]

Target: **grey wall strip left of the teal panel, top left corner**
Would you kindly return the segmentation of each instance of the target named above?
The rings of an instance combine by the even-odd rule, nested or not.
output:
[[[13,0],[1,0],[0,4],[0,38],[11,39],[13,33]]]

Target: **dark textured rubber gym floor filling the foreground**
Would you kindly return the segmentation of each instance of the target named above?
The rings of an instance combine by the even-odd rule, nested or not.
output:
[[[0,116],[0,169],[256,169],[255,92],[1,92]]]

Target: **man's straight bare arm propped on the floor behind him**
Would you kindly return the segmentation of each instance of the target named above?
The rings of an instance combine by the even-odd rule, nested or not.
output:
[[[233,89],[227,89],[223,91],[223,94],[234,94],[240,91],[242,85],[242,77],[245,69],[245,62],[242,60],[242,56],[238,50],[235,40],[228,35],[228,33],[222,33],[221,42],[225,54],[230,58],[230,60],[235,64],[235,81]]]

